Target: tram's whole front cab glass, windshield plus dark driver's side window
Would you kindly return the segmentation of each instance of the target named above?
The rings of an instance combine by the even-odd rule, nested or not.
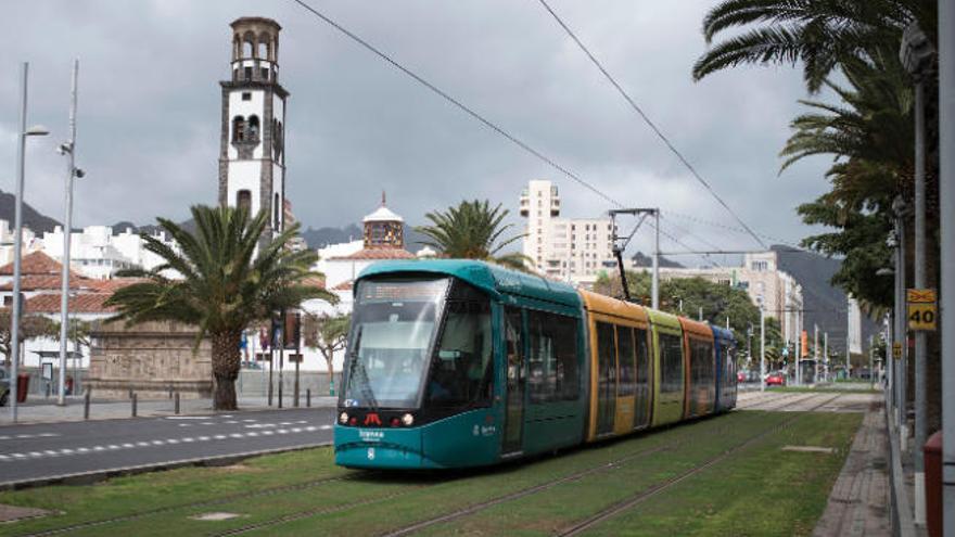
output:
[[[459,409],[489,404],[491,302],[450,279],[362,280],[342,404]]]

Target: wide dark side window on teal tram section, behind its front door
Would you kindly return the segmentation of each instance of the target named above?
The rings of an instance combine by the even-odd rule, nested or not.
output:
[[[529,392],[533,402],[574,400],[580,395],[577,323],[571,317],[527,312]]]

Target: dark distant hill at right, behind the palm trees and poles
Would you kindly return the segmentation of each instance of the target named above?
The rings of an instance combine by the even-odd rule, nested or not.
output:
[[[845,334],[848,331],[848,298],[841,289],[832,285],[832,274],[839,270],[841,261],[803,251],[794,251],[789,246],[774,245],[771,247],[779,258],[779,269],[788,272],[802,285],[803,327],[813,337],[813,327],[819,325],[819,345],[823,333],[829,332],[829,348],[845,354]],[[863,349],[868,347],[868,338],[879,332],[879,325],[871,319],[862,318]]]

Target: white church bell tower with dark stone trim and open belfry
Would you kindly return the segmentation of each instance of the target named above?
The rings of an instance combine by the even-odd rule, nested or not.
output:
[[[285,99],[279,85],[279,30],[270,18],[232,24],[232,78],[222,87],[219,204],[269,214],[264,239],[282,230],[285,200]]]

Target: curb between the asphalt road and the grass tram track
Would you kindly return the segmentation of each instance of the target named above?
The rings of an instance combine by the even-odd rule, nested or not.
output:
[[[90,470],[87,472],[59,474],[46,477],[37,477],[33,480],[9,481],[0,483],[0,490],[21,490],[24,488],[41,487],[48,485],[90,485],[92,483],[109,480],[110,477],[144,474],[149,472],[173,470],[184,466],[227,466],[229,464],[234,464],[252,457],[277,455],[291,451],[304,451],[306,449],[331,446],[332,444],[332,442],[319,442],[283,448],[259,449],[255,451],[243,451],[240,453],[216,455],[212,457],[195,457],[192,459],[180,459],[164,462],[151,462],[147,464],[120,466],[107,470]]]

